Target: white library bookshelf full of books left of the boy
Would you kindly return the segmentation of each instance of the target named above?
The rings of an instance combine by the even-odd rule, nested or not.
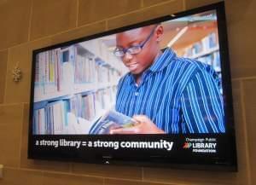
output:
[[[34,135],[88,134],[126,72],[100,40],[44,51],[35,62]]]

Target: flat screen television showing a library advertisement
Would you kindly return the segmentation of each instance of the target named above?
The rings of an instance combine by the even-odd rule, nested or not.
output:
[[[33,50],[29,159],[236,171],[224,3]]]

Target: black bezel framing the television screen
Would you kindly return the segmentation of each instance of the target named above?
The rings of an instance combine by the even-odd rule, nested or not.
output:
[[[119,156],[118,159],[109,159],[108,156],[96,156],[96,158],[91,159],[80,159],[80,158],[62,158],[60,156],[49,156],[40,155],[38,156],[37,151],[34,150],[32,143],[32,119],[33,119],[33,99],[34,99],[34,80],[35,80],[35,60],[36,55],[40,52],[44,52],[49,49],[56,49],[65,47],[74,43],[80,43],[84,41],[88,41],[94,38],[101,38],[104,36],[108,36],[111,34],[115,34],[117,32],[124,32],[126,30],[130,30],[133,28],[148,26],[157,22],[163,22],[166,20],[173,20],[183,16],[187,16],[190,14],[199,14],[202,12],[206,12],[209,10],[216,10],[218,16],[218,40],[219,40],[219,51],[221,53],[221,67],[222,67],[222,77],[224,83],[224,111],[225,111],[225,121],[226,123],[226,132],[224,133],[226,139],[225,141],[229,144],[230,151],[227,154],[229,163],[224,164],[221,162],[212,163],[213,159],[209,159],[208,162],[204,164],[196,165],[192,164],[168,164],[165,159],[148,159],[144,161],[142,159],[128,159]],[[225,61],[225,62],[223,62]],[[224,2],[213,3],[207,6],[199,7],[196,9],[189,9],[183,12],[179,12],[176,14],[168,14],[166,16],[162,16],[160,18],[156,18],[153,20],[145,20],[143,22],[138,22],[137,24],[133,24],[130,26],[119,27],[107,32],[100,32],[90,36],[86,36],[83,38],[73,39],[71,41],[67,41],[64,43],[57,43],[48,47],[44,47],[42,49],[35,49],[32,51],[32,80],[31,80],[31,98],[30,98],[30,112],[29,112],[29,134],[28,134],[28,151],[27,156],[28,159],[47,159],[47,160],[59,160],[59,161],[72,161],[72,162],[86,162],[93,164],[113,164],[113,165],[139,165],[139,166],[158,166],[158,167],[174,167],[180,169],[193,169],[193,170],[212,170],[212,171],[237,171],[237,162],[236,162],[236,136],[235,136],[235,123],[234,123],[234,115],[233,115],[233,101],[232,101],[232,90],[231,90],[231,81],[230,81],[230,57],[229,57],[229,49],[228,49],[228,37],[227,37],[227,27],[226,27],[226,19],[225,19],[225,11],[224,11]],[[157,136],[157,135],[155,135]],[[181,135],[176,135],[181,136]],[[98,136],[99,138],[104,138],[105,136]],[[117,138],[119,136],[115,136]]]

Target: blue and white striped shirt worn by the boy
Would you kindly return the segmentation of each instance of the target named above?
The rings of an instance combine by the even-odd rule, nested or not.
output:
[[[220,133],[224,105],[218,75],[200,61],[166,49],[143,72],[139,85],[131,72],[119,80],[116,110],[143,114],[166,133]]]

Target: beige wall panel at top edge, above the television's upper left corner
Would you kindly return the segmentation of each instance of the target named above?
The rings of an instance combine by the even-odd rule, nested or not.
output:
[[[63,32],[76,26],[77,0],[34,0],[31,40]]]

